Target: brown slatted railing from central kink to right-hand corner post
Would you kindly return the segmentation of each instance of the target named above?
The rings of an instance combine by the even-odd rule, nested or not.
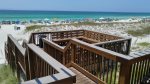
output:
[[[89,44],[78,39],[70,40],[66,47],[57,45],[47,39],[43,39],[43,41],[44,50],[48,54],[57,57],[55,58],[56,60],[61,60],[60,62],[68,67],[73,66],[97,83],[138,84],[144,75],[149,73],[147,70],[150,69],[150,52],[147,52],[146,55],[138,55],[138,58],[135,58],[129,55],[128,50],[120,52],[107,47],[95,46],[97,44]],[[111,44],[112,46],[113,43],[120,45],[122,43],[123,46],[125,43],[126,48],[130,48],[130,41],[131,39],[124,39],[113,41],[112,43],[108,42],[107,45]],[[105,44],[106,43],[101,43],[101,45]],[[115,49],[121,49],[122,47],[120,47],[121,46],[115,46]],[[66,55],[67,50],[69,52],[68,55]],[[68,61],[64,62],[63,60]],[[137,63],[145,64],[145,69],[142,68],[142,70],[147,71],[145,74],[141,72],[142,75],[138,75],[138,78],[136,78],[137,76],[135,76],[135,74],[139,72],[136,70],[139,69],[138,67],[141,66],[141,64],[137,65]],[[133,80],[132,77],[135,80]]]

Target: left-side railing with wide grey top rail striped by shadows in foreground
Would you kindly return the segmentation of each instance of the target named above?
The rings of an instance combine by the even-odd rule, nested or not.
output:
[[[13,46],[11,46],[12,42],[13,42]],[[23,48],[15,40],[15,38],[10,34],[8,35],[7,43],[8,43],[7,44],[8,47],[12,47],[12,48],[10,48],[11,50],[9,49],[8,52],[6,52],[6,54],[9,55],[9,58],[7,60],[10,61],[9,64],[11,65],[11,68],[16,67],[18,81],[20,79],[20,74],[19,74],[20,69],[23,70],[23,73],[25,74],[25,76],[30,76],[29,79],[33,79],[33,80],[21,82],[22,84],[29,84],[29,83],[35,84],[35,83],[39,83],[39,82],[41,82],[42,84],[43,83],[44,84],[45,83],[60,83],[60,82],[62,82],[62,83],[67,82],[67,84],[73,84],[75,82],[76,75],[71,70],[66,68],[61,63],[59,63],[53,57],[49,56],[46,52],[44,52],[42,49],[40,49],[36,45],[27,44],[26,47]],[[12,49],[14,49],[14,51]],[[20,53],[22,54],[21,56],[23,56],[23,58],[20,58]],[[32,55],[36,55],[37,57],[34,56],[35,57],[34,58]],[[35,63],[35,61],[37,61],[37,59],[41,59],[41,60],[43,60],[44,63],[47,63],[47,67],[46,67],[46,64],[42,65],[45,67],[45,68],[43,68],[44,70],[46,70],[46,68],[48,69],[48,68],[52,67],[52,68],[48,69],[48,70],[52,70],[52,71],[49,71],[47,74],[52,74],[52,73],[53,74],[45,76],[46,73],[43,72],[43,75],[44,75],[43,77],[41,77],[42,75],[38,76],[37,74],[35,74],[35,76],[34,75],[32,76],[32,74],[34,72],[33,71],[34,69],[32,69],[32,67],[34,67],[34,66],[31,66],[31,64],[32,64],[32,61],[33,61],[33,63]],[[24,60],[24,61],[22,61],[20,63],[19,60],[20,61]],[[13,64],[11,64],[12,62],[13,62]],[[14,66],[14,64],[16,64],[16,65]],[[22,67],[22,66],[24,66],[24,67]],[[29,71],[28,71],[28,69],[29,69]],[[36,76],[39,78],[34,79],[33,77],[36,77]],[[37,82],[37,80],[38,80],[38,82]]]

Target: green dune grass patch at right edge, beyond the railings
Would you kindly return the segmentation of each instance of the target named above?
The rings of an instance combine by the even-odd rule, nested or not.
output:
[[[150,26],[147,26],[147,27],[144,27],[141,29],[137,29],[137,30],[128,30],[127,33],[132,35],[132,36],[148,35],[148,34],[150,34]]]

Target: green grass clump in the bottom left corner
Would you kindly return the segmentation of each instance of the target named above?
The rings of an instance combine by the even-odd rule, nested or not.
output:
[[[18,84],[9,65],[0,64],[0,84]]]

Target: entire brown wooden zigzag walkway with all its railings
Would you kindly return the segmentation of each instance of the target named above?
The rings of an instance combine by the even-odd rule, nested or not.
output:
[[[89,30],[39,32],[22,45],[8,35],[5,56],[21,84],[141,84],[150,49],[130,53],[130,46],[130,38]]]

